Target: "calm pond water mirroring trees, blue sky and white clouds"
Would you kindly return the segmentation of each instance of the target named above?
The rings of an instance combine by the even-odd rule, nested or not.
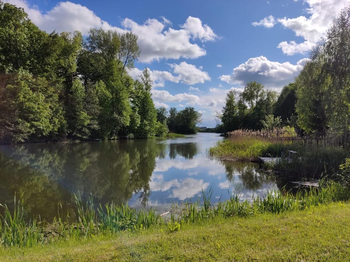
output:
[[[241,199],[281,187],[254,163],[222,162],[207,150],[223,138],[198,133],[178,139],[90,141],[0,146],[0,203],[13,205],[24,192],[28,215],[74,214],[74,195],[96,203],[126,203],[165,211],[174,202],[197,200],[212,187],[212,202],[241,187]],[[283,185],[283,184],[282,184]],[[230,193],[229,193],[230,192]]]

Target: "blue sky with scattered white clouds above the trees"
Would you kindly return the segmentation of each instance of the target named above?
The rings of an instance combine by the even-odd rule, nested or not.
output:
[[[226,93],[257,81],[280,91],[303,68],[349,0],[5,0],[42,30],[132,31],[141,56],[129,71],[151,70],[156,107],[191,106],[215,126]]]

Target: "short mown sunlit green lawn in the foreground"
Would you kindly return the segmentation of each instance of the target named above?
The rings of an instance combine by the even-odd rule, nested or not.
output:
[[[0,261],[349,261],[350,204],[282,215],[218,218],[182,226],[32,249],[0,251]]]

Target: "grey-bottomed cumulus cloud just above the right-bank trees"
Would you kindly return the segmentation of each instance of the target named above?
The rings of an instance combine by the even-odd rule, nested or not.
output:
[[[235,67],[230,75],[222,75],[220,80],[239,85],[257,81],[267,87],[280,88],[294,80],[307,60],[301,59],[293,65],[289,62],[270,61],[264,56],[254,57]]]

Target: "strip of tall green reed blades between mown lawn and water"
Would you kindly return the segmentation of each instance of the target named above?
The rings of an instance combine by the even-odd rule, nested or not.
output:
[[[163,219],[153,209],[136,211],[128,205],[106,204],[93,206],[92,197],[85,204],[76,197],[78,219],[69,224],[62,216],[53,223],[42,223],[36,219],[25,221],[22,196],[15,201],[15,210],[9,212],[1,205],[0,247],[32,247],[52,241],[85,239],[94,235],[110,235],[120,231],[138,231],[152,227],[166,227],[170,232],[180,230],[181,224],[191,224],[215,217],[250,217],[263,213],[297,211],[334,201],[349,201],[350,191],[335,182],[320,182],[320,188],[292,195],[290,192],[270,191],[266,197],[255,197],[252,201],[240,201],[237,189],[228,201],[211,204],[212,190],[203,191],[203,202],[185,203],[179,216]],[[69,216],[69,214],[67,214]]]

